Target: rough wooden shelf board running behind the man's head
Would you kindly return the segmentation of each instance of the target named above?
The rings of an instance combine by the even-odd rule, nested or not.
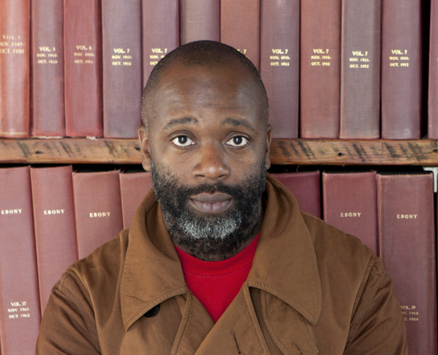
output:
[[[0,163],[140,164],[137,139],[0,139]],[[273,165],[438,165],[430,139],[274,139]]]

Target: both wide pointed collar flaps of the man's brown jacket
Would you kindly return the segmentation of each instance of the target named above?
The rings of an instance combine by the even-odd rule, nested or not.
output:
[[[295,198],[270,175],[266,192],[248,285],[280,298],[315,324],[321,314],[321,281],[309,231]],[[120,292],[126,330],[155,305],[189,292],[152,190],[131,222]]]

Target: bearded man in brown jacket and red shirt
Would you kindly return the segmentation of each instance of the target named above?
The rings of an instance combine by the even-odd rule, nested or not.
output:
[[[381,261],[266,179],[268,100],[246,57],[179,47],[142,109],[153,191],[54,287],[38,354],[408,353]]]

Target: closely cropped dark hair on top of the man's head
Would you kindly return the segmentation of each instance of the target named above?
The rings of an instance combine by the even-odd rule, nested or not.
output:
[[[155,93],[159,86],[162,75],[175,64],[187,66],[203,66],[206,68],[233,68],[235,71],[247,70],[249,75],[254,79],[254,86],[260,97],[260,104],[264,112],[266,125],[268,124],[268,97],[264,84],[261,81],[259,71],[252,62],[242,53],[234,48],[214,41],[196,41],[182,45],[176,50],[167,54],[155,65],[150,73],[146,88],[143,91],[141,117],[143,124],[148,127],[148,119],[153,115]]]

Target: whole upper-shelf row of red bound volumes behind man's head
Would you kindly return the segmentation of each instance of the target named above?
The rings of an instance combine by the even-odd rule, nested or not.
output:
[[[426,3],[5,0],[0,136],[134,138],[158,60],[220,40],[261,72],[274,138],[420,139],[428,116],[438,139],[438,6]]]

